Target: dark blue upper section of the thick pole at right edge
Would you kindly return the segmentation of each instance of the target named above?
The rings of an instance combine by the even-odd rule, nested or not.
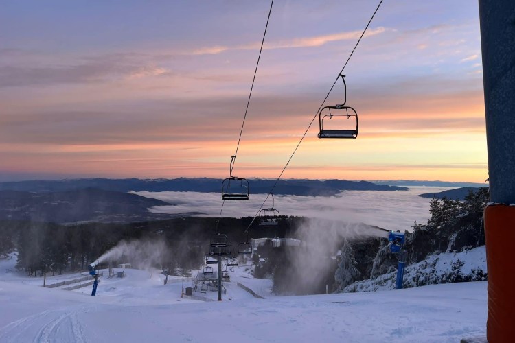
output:
[[[515,3],[479,0],[492,202],[515,204]]]

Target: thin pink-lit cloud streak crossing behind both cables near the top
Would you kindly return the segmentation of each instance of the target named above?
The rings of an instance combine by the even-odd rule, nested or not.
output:
[[[365,34],[365,37],[368,36],[376,36],[377,34],[382,34],[387,31],[385,27],[377,27],[376,29],[369,29]],[[358,39],[361,36],[362,31],[351,31],[351,32],[339,32],[337,34],[325,34],[321,36],[314,37],[303,37],[303,38],[293,38],[290,40],[280,40],[280,41],[271,41],[270,43],[266,43],[263,46],[264,50],[271,49],[288,49],[288,48],[299,48],[299,47],[320,47],[327,43],[336,42],[339,40],[350,40],[350,39]],[[224,45],[216,45],[213,47],[203,47],[201,49],[197,49],[193,51],[194,55],[216,55],[221,54],[222,52],[229,50],[255,50],[260,48],[260,43],[252,43],[246,45],[234,45],[224,46]]]

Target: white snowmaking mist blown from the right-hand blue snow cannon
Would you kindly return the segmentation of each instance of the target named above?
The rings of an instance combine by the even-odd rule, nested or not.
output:
[[[327,278],[328,273],[332,272],[332,263],[329,261],[341,249],[345,240],[387,238],[388,233],[385,229],[363,223],[311,218],[301,222],[295,237],[301,239],[305,247],[304,250],[288,250],[288,258],[299,268],[297,274],[300,277],[295,281],[296,287],[316,289],[321,278]]]

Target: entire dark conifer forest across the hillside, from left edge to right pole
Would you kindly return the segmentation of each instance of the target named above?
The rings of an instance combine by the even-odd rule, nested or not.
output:
[[[464,201],[433,199],[431,218],[413,224],[404,249],[407,263],[416,263],[438,252],[461,252],[484,242],[483,209],[488,189],[471,192]],[[60,225],[45,222],[0,221],[0,257],[18,251],[17,268],[30,275],[87,269],[87,265],[120,241],[159,242],[152,267],[176,270],[198,269],[205,263],[209,239],[218,218],[183,217],[130,224],[85,223]],[[248,237],[251,217],[222,217],[218,230],[229,237],[233,251]],[[277,227],[254,224],[249,238],[297,237],[302,217],[281,217]],[[253,254],[255,277],[271,277],[276,294],[321,294],[341,291],[348,285],[395,270],[397,257],[389,252],[387,239],[330,237],[336,248],[304,241],[300,246],[265,244]],[[339,250],[339,251],[338,251]],[[137,265],[137,261],[129,262]],[[148,265],[148,264],[147,264]],[[102,267],[102,266],[101,266]],[[106,267],[104,265],[103,267]],[[457,280],[459,281],[459,280]]]

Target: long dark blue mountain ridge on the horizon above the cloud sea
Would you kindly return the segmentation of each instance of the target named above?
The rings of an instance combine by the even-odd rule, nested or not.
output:
[[[268,193],[275,183],[271,179],[249,179],[250,193]],[[147,179],[138,178],[107,179],[81,178],[70,180],[31,180],[0,182],[0,191],[30,191],[49,193],[96,188],[105,191],[195,191],[218,193],[222,190],[222,179],[217,178],[175,178]],[[334,196],[340,191],[406,191],[407,187],[377,185],[368,181],[347,180],[279,180],[274,193],[294,196]]]

